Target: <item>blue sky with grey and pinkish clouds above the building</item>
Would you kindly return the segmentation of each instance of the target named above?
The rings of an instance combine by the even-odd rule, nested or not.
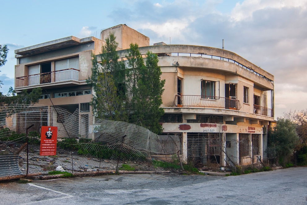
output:
[[[275,76],[275,119],[307,108],[307,0],[0,0],[3,94],[14,87],[14,50],[58,38],[94,36],[118,24],[150,45],[198,45],[234,52]]]

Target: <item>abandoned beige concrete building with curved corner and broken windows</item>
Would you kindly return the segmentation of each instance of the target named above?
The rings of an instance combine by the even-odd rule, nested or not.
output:
[[[142,55],[158,55],[165,79],[160,119],[164,134],[178,135],[182,159],[227,166],[251,164],[266,158],[268,126],[274,121],[274,76],[235,53],[219,48],[166,45],[149,46],[149,37],[120,24],[103,30],[100,39],[65,37],[15,50],[15,91],[41,87],[39,104],[74,112],[80,110],[79,126],[92,132],[93,90],[86,83],[92,57],[115,32],[120,58],[130,43]],[[228,154],[227,154],[228,153]]]

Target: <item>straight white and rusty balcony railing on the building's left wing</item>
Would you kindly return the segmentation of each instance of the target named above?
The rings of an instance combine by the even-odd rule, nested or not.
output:
[[[16,78],[16,88],[31,86],[31,85],[41,85],[45,83],[63,82],[79,80],[79,70],[74,68],[68,68],[65,70],[52,71],[39,73],[29,76],[23,76]]]

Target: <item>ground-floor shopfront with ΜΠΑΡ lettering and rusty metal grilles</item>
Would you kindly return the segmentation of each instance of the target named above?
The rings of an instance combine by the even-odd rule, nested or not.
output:
[[[165,123],[163,128],[164,134],[182,139],[181,158],[186,163],[208,167],[254,164],[263,160],[266,149],[263,126]]]

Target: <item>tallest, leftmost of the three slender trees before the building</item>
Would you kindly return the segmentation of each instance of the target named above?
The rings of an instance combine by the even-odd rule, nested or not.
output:
[[[101,61],[98,62],[97,56],[92,55],[92,76],[87,80],[95,92],[91,105],[98,117],[127,121],[127,114],[123,109],[125,91],[121,86],[125,79],[125,65],[118,61],[118,43],[114,33],[110,33],[105,40],[106,46],[102,47],[99,55]]]

